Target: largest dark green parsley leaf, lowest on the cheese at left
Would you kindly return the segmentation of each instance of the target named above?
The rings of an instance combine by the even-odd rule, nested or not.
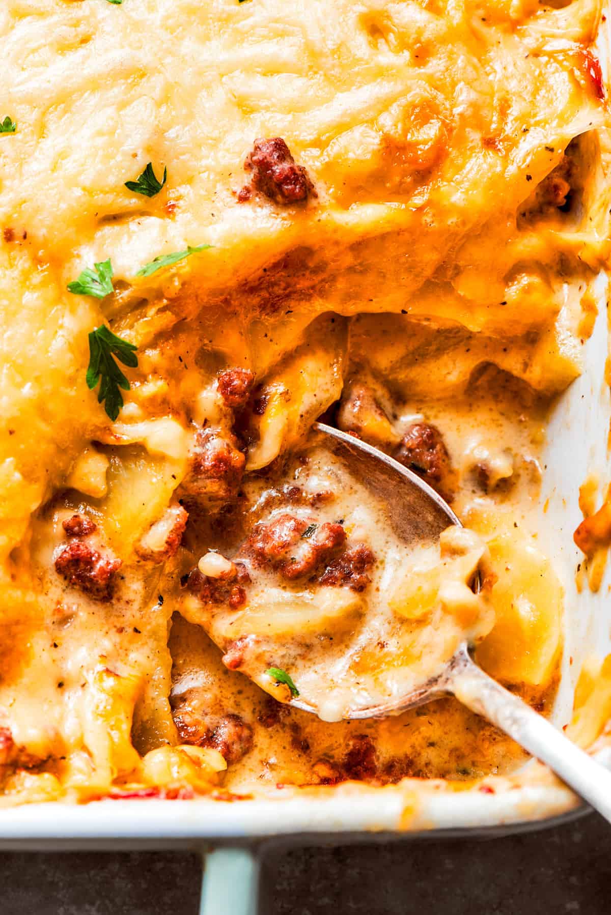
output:
[[[135,369],[138,364],[136,349],[133,343],[116,337],[104,324],[92,330],[89,335],[89,366],[85,380],[90,391],[100,382],[98,404],[104,401],[106,414],[113,422],[123,406],[123,396],[119,388],[129,391],[129,382],[113,356],[124,365]]]

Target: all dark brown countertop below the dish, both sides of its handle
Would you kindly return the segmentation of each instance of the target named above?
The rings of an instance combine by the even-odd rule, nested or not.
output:
[[[11,852],[0,880],[2,915],[196,915],[200,862]],[[260,915],[608,915],[611,826],[593,814],[503,839],[296,848],[264,862],[262,899]]]

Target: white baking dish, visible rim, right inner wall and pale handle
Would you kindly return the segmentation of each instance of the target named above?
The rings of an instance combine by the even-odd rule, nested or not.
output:
[[[593,470],[606,481],[610,411],[604,381],[603,277],[598,291],[600,315],[592,338],[584,344],[584,373],[554,408],[543,462],[540,504],[549,499],[549,508],[541,511],[540,543],[554,557],[566,594],[566,647],[554,712],[559,725],[571,715],[575,680],[584,657],[592,651],[604,657],[610,651],[611,601],[606,599],[606,581],[597,594],[587,588],[578,594],[574,581],[581,558],[573,544],[573,530],[581,520],[579,486]],[[0,814],[0,846],[49,851],[181,845],[196,846],[204,853],[206,846],[220,844],[207,858],[202,912],[245,915],[256,911],[256,851],[262,843],[273,842],[274,836],[285,836],[286,845],[289,835],[293,841],[310,836],[306,841],[317,842],[322,834],[342,834],[343,841],[350,841],[372,833],[413,836],[425,830],[521,830],[583,810],[571,791],[553,783],[518,784],[495,794],[444,791],[442,785],[427,785],[419,791],[414,782],[407,782],[382,789],[348,785],[322,793],[297,791],[286,797],[278,792],[278,799],[241,802],[32,804]]]

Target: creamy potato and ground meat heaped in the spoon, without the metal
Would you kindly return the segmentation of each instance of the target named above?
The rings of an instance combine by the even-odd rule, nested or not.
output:
[[[406,543],[387,505],[322,443],[270,482],[245,483],[247,536],[230,557],[202,554],[180,605],[229,670],[336,721],[408,694],[491,630],[477,534],[453,525]]]

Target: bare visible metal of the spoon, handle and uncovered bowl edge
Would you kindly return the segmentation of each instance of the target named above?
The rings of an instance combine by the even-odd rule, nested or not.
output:
[[[436,539],[451,524],[460,524],[450,506],[420,477],[330,425],[316,423],[315,430],[327,437],[325,445],[341,458],[356,479],[388,509],[389,521],[407,544]],[[532,756],[546,763],[573,791],[611,822],[611,772],[577,748],[529,705],[509,693],[475,664],[464,642],[444,669],[417,690],[386,705],[348,710],[345,718],[379,718],[398,715],[415,705],[453,694],[477,715],[499,727]],[[291,705],[317,713],[314,705],[300,698]]]

